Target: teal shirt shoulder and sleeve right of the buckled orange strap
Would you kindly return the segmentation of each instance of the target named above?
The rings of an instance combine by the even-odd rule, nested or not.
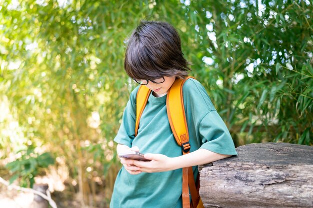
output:
[[[195,79],[183,85],[183,99],[190,131],[195,130],[199,148],[211,152],[237,155],[229,131],[218,115],[204,87]]]

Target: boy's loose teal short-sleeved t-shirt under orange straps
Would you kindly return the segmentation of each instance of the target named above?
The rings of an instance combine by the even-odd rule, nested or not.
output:
[[[130,94],[122,123],[114,141],[128,147],[138,146],[141,153],[182,155],[171,132],[166,113],[166,95],[150,94],[134,137],[136,120],[136,87]],[[204,87],[188,79],[182,88],[187,119],[190,152],[199,148],[226,155],[237,155],[224,122],[217,114]],[[194,177],[197,166],[192,167]],[[182,169],[160,173],[129,174],[124,167],[118,172],[110,208],[182,208]]]

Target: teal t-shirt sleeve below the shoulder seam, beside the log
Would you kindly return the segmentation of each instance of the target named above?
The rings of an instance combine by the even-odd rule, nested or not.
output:
[[[206,113],[198,123],[201,147],[224,155],[237,155],[229,131],[216,110]]]

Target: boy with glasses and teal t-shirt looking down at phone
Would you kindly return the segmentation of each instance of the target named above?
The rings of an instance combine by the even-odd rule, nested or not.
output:
[[[166,113],[166,94],[190,70],[177,31],[166,22],[142,21],[131,34],[124,68],[139,85],[152,90],[135,135],[136,87],[130,94],[114,141],[117,153],[139,151],[150,162],[120,159],[110,208],[182,208],[182,168],[236,155],[230,134],[205,89],[195,79],[182,88],[190,153],[182,155]]]

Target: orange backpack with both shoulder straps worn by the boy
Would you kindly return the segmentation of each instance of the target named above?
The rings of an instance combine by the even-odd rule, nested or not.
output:
[[[176,79],[169,88],[166,96],[166,111],[171,131],[179,146],[181,146],[182,154],[188,154],[190,150],[189,135],[187,122],[185,117],[182,86],[184,82],[193,78],[188,76],[185,79]],[[151,90],[141,85],[136,96],[136,123],[135,136],[138,133],[139,120],[148,101]],[[194,182],[192,167],[182,169],[182,207],[183,208],[204,208],[199,196],[199,176],[197,185]],[[188,189],[189,187],[189,189]],[[189,199],[189,190],[191,194],[191,203]]]

